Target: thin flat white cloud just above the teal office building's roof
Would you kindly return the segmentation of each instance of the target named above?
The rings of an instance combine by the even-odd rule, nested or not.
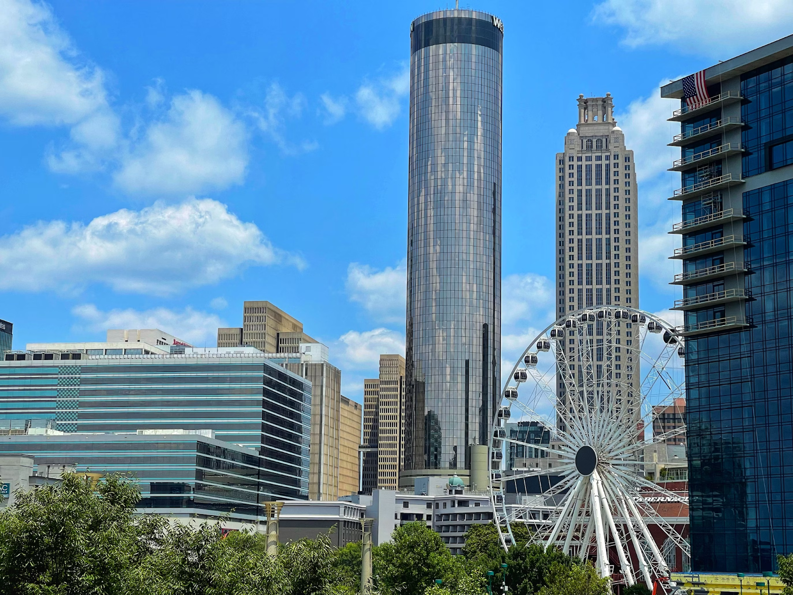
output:
[[[102,332],[108,328],[159,328],[185,340],[196,347],[214,347],[217,329],[226,326],[216,314],[199,312],[188,306],[181,312],[167,308],[155,308],[140,312],[134,309],[113,309],[102,312],[94,304],[82,304],[71,310],[79,323],[78,330],[85,328]]]

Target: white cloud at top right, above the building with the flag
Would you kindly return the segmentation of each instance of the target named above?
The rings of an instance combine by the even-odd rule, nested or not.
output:
[[[727,59],[764,45],[793,29],[789,0],[605,0],[596,21],[625,29],[631,48],[673,44],[712,59]]]

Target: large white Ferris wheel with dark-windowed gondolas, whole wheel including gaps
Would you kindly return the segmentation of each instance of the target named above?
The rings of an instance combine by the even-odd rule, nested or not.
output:
[[[569,313],[529,344],[492,420],[490,487],[504,548],[524,523],[529,543],[650,589],[669,574],[665,548],[691,555],[680,525],[653,506],[688,497],[646,478],[643,456],[653,443],[684,441],[684,425],[658,419],[685,396],[684,357],[671,324],[619,306]]]

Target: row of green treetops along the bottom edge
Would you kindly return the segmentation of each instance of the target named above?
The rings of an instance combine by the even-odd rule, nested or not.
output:
[[[358,593],[360,543],[335,548],[328,536],[299,539],[270,557],[263,535],[224,536],[217,523],[136,515],[138,501],[136,484],[117,475],[94,482],[67,474],[59,484],[17,492],[0,511],[0,595]],[[497,593],[504,563],[515,595],[610,592],[591,564],[527,546],[527,530],[512,530],[516,543],[504,551],[495,525],[473,525],[454,556],[426,524],[404,524],[373,548],[375,593],[485,595],[488,570]]]

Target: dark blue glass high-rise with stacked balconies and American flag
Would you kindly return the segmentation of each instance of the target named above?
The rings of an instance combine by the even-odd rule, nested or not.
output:
[[[703,75],[709,101],[670,118],[691,570],[775,570],[793,552],[793,36]]]

